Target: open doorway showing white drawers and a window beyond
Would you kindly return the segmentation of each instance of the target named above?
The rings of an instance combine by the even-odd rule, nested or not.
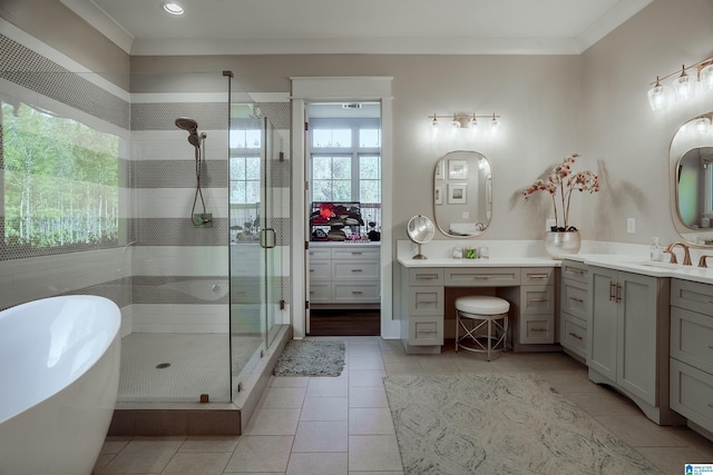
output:
[[[381,334],[381,106],[305,108],[307,334]]]

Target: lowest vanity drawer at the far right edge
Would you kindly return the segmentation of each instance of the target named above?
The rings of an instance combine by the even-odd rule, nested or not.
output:
[[[713,376],[671,359],[671,408],[713,431]]]

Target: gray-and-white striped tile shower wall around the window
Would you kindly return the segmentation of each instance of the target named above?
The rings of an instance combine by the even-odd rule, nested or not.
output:
[[[65,248],[38,255],[19,254],[0,243],[0,308],[52,295],[88,293],[107,296],[121,307],[123,335],[226,331],[227,83],[224,95],[136,95],[135,100],[108,82],[95,81],[97,86],[86,79],[87,75],[72,73],[71,60],[60,53],[43,56],[51,48],[39,41],[28,40],[26,34],[18,38],[0,34],[0,87],[20,88],[50,105],[69,106],[91,121],[107,122],[124,138],[118,167],[125,235],[119,246]],[[279,129],[284,140],[281,149],[287,158],[272,162],[277,186],[274,227],[283,263],[273,286],[280,296],[274,297],[287,300],[290,108],[287,102],[260,106]],[[193,117],[199,131],[207,133],[202,187],[206,211],[213,214],[212,228],[195,228],[189,219],[195,160],[187,132],[174,125],[179,116]],[[199,202],[197,207],[201,212]],[[0,206],[0,226],[2,212]],[[240,270],[242,263],[234,261],[236,266]],[[279,320],[289,323],[286,310],[279,314]]]

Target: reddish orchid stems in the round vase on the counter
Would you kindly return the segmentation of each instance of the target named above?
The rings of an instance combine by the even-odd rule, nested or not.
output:
[[[547,191],[551,195],[553,207],[555,208],[555,226],[553,231],[575,231],[577,228],[569,226],[569,202],[574,191],[599,191],[599,177],[589,170],[573,171],[572,166],[579,157],[573,154],[558,164],[547,179],[537,179],[522,195],[525,200],[529,199],[537,191]],[[560,210],[563,225],[559,226]]]

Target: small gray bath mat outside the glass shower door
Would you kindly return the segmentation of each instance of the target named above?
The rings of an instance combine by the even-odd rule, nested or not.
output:
[[[280,355],[275,376],[339,376],[344,368],[344,342],[293,339]]]

